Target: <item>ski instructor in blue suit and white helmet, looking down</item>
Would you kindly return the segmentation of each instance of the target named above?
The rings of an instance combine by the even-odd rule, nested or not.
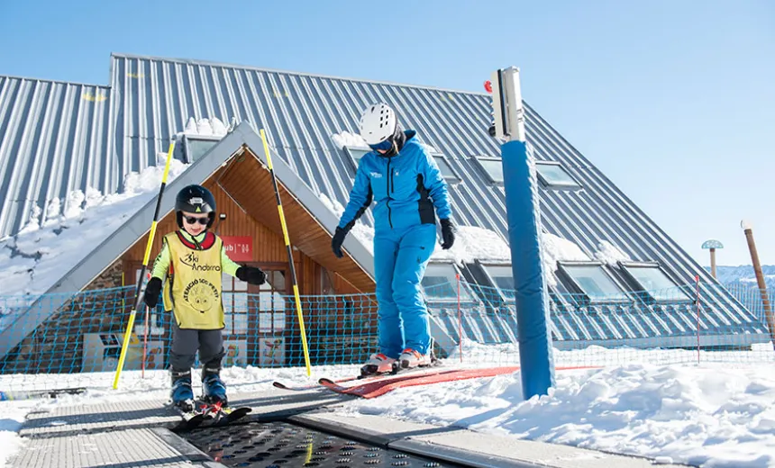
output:
[[[371,152],[360,158],[350,201],[342,213],[331,247],[342,258],[342,242],[372,199],[374,268],[377,277],[379,352],[369,357],[362,374],[430,365],[431,334],[420,284],[436,244],[436,214],[442,225],[442,248],[452,247],[447,184],[436,161],[403,130],[396,112],[385,103],[370,105],[360,117],[360,136]]]

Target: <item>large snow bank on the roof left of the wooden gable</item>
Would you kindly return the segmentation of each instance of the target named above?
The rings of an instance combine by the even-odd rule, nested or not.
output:
[[[0,240],[0,295],[36,297],[77,266],[93,247],[159,193],[167,154],[160,153],[157,159],[159,166],[127,175],[123,193],[74,191],[64,203],[59,199],[48,202],[45,219],[41,219],[41,208],[36,206],[23,229]],[[186,167],[177,159],[170,161],[168,183]]]

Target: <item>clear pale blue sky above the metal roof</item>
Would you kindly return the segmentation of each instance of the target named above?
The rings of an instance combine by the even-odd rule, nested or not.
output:
[[[107,84],[111,52],[482,90],[524,100],[688,253],[740,220],[775,264],[775,3],[3,2],[0,75]]]

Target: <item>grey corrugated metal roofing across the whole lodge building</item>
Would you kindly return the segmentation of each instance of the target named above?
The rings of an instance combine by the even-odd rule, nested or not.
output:
[[[369,103],[383,101],[397,109],[405,128],[418,130],[419,138],[441,151],[451,168],[462,176],[462,182],[450,186],[455,220],[492,229],[508,238],[503,187],[490,183],[473,158],[499,155],[499,145],[487,131],[488,94],[120,54],[112,56],[111,70],[110,88],[0,78],[0,134],[4,135],[0,169],[4,171],[4,184],[11,180],[6,167],[12,167],[21,180],[42,187],[31,195],[25,193],[25,200],[40,201],[42,193],[61,196],[71,187],[86,184],[115,190],[126,171],[154,165],[156,153],[166,150],[169,139],[184,129],[190,117],[215,117],[221,121],[251,121],[256,128],[265,129],[270,145],[305,184],[343,205],[354,166],[332,136],[343,130],[355,133],[360,111]],[[59,100],[44,97],[46,90],[52,89],[59,90],[54,94]],[[108,96],[110,105],[105,101],[81,102],[80,96],[89,91]],[[68,97],[62,98],[61,94]],[[60,102],[59,106],[52,105]],[[94,105],[100,103],[103,105]],[[542,222],[548,232],[574,242],[593,259],[598,245],[605,240],[634,261],[659,261],[677,284],[688,284],[695,275],[704,283],[713,283],[701,266],[586,157],[525,105],[525,128],[534,156],[560,162],[583,187],[578,191],[540,190]],[[42,113],[44,118],[35,131],[31,127],[37,121],[28,117],[34,118],[41,109],[48,112]],[[71,133],[73,138],[68,138]],[[40,144],[32,143],[34,134],[42,134],[43,140],[49,141],[47,150],[41,151]],[[61,180],[55,176],[36,178],[33,174],[37,171],[29,164],[17,162],[21,153],[14,150],[14,145],[34,155],[37,166],[60,169],[64,161],[72,164],[68,164],[68,170],[56,173]],[[76,148],[68,151],[63,145]],[[14,162],[10,163],[12,155]],[[14,184],[14,190],[18,192],[19,186]],[[23,213],[8,209],[7,204],[4,202],[2,218],[5,233],[21,223]],[[372,224],[370,212],[364,218]],[[609,273],[627,289],[621,272],[609,268]],[[560,283],[552,293],[568,291]],[[734,333],[766,332],[761,322],[724,290],[704,288],[703,295],[709,324],[716,323],[719,329],[726,327]],[[686,321],[683,316],[689,313],[683,307],[673,309],[677,322],[667,329],[660,320],[645,317],[643,311],[618,311],[616,320],[610,319],[610,311],[588,311],[584,317],[572,320],[555,314],[554,327],[561,339],[664,337],[672,332],[670,327],[679,329],[679,324]],[[727,327],[736,323],[742,323],[742,328]]]

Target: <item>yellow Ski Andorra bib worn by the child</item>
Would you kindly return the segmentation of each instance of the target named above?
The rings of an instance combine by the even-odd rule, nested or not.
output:
[[[164,236],[169,248],[169,272],[164,283],[164,309],[175,313],[181,329],[223,329],[221,248],[223,240],[208,232],[191,244],[178,232]]]

